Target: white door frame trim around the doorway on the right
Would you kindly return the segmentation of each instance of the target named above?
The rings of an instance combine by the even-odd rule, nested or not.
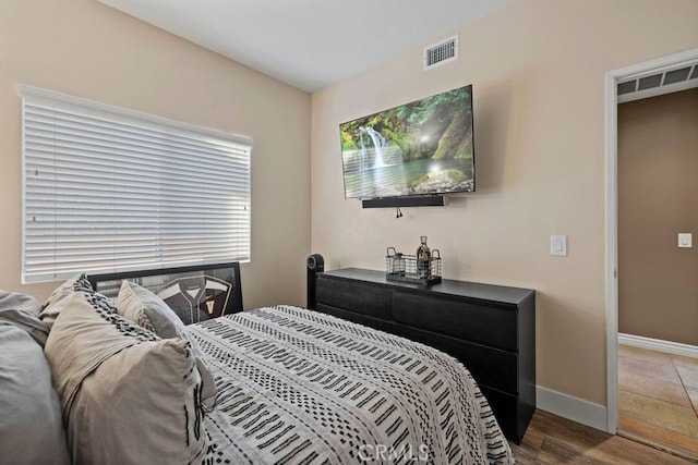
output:
[[[615,435],[618,424],[618,172],[617,83],[652,74],[667,66],[698,59],[698,49],[662,57],[605,75],[605,199],[606,199],[606,431]]]

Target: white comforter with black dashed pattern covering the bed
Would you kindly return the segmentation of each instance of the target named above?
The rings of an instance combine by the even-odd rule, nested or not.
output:
[[[514,463],[470,374],[426,345],[289,306],[189,330],[218,387],[206,463]]]

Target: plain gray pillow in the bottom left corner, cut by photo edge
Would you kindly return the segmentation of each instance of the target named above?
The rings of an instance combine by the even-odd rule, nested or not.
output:
[[[0,462],[70,464],[61,407],[41,346],[0,321]]]

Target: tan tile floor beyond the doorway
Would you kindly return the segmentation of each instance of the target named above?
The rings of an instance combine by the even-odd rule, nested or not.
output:
[[[698,358],[618,346],[618,435],[698,463]]]

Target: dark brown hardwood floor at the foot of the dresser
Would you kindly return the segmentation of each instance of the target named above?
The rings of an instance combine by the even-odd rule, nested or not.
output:
[[[535,411],[521,444],[512,450],[519,465],[698,463],[542,411]]]

